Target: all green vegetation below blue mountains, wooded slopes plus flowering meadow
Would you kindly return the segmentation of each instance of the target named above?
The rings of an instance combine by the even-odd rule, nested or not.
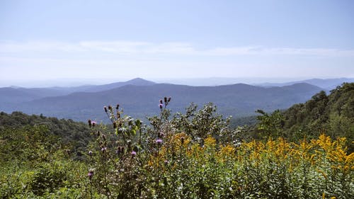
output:
[[[81,144],[45,123],[3,125],[0,198],[354,198],[353,88],[258,110],[253,128],[212,103],[172,115],[166,97],[149,124],[104,107],[111,124],[89,120]]]

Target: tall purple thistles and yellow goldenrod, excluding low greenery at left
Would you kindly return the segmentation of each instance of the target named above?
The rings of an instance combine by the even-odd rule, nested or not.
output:
[[[97,137],[91,195],[105,198],[351,198],[354,154],[343,139],[240,142],[212,104],[171,118],[159,101],[151,125],[104,108],[115,134]],[[96,131],[99,127],[93,127]],[[97,136],[98,135],[98,136]],[[110,142],[108,142],[108,137]],[[104,152],[103,152],[104,149]],[[91,170],[90,170],[91,172]],[[91,173],[89,173],[90,175]],[[94,197],[93,197],[94,198]]]

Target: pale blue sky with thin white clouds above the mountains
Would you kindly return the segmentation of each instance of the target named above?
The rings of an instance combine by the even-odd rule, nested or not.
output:
[[[353,10],[351,0],[2,0],[0,86],[354,77]]]

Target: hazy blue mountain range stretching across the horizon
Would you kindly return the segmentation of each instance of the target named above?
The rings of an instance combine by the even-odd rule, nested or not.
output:
[[[331,79],[328,84],[334,85],[333,82]],[[289,85],[285,83],[281,86],[249,84],[186,86],[156,84],[137,78],[105,85],[35,89],[0,88],[0,110],[7,113],[15,110],[28,114],[42,113],[80,121],[91,118],[105,122],[107,118],[103,106],[115,106],[120,103],[125,114],[144,119],[159,113],[160,98],[171,96],[169,108],[173,113],[184,112],[192,102],[198,106],[212,102],[222,115],[240,117],[253,115],[257,109],[273,111],[288,108],[294,103],[307,101],[321,90],[328,91],[306,81]]]

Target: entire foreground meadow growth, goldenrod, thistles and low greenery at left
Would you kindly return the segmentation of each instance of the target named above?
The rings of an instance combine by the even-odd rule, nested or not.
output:
[[[2,165],[0,198],[354,198],[354,153],[344,137],[241,142],[244,132],[212,103],[171,115],[171,98],[158,102],[149,125],[119,105],[104,107],[111,124],[88,121],[84,160],[35,142],[33,161]]]

